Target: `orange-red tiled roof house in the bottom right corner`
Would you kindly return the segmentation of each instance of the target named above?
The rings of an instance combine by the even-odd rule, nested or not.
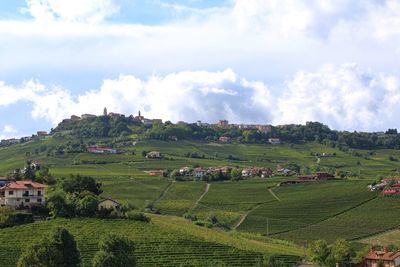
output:
[[[385,267],[400,266],[400,252],[391,252],[387,248],[385,248],[383,251],[371,249],[368,254],[363,258],[362,266],[378,267],[382,263]]]

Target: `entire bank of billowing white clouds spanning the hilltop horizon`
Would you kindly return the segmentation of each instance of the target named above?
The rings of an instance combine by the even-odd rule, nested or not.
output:
[[[109,111],[194,122],[228,119],[235,123],[305,123],[320,121],[340,130],[384,130],[400,127],[400,79],[356,64],[299,71],[272,94],[260,81],[233,70],[186,71],[139,79],[120,75],[99,89],[73,95],[57,86],[29,81],[20,87],[0,83],[0,106],[31,102],[34,119],[56,125],[73,114]]]

